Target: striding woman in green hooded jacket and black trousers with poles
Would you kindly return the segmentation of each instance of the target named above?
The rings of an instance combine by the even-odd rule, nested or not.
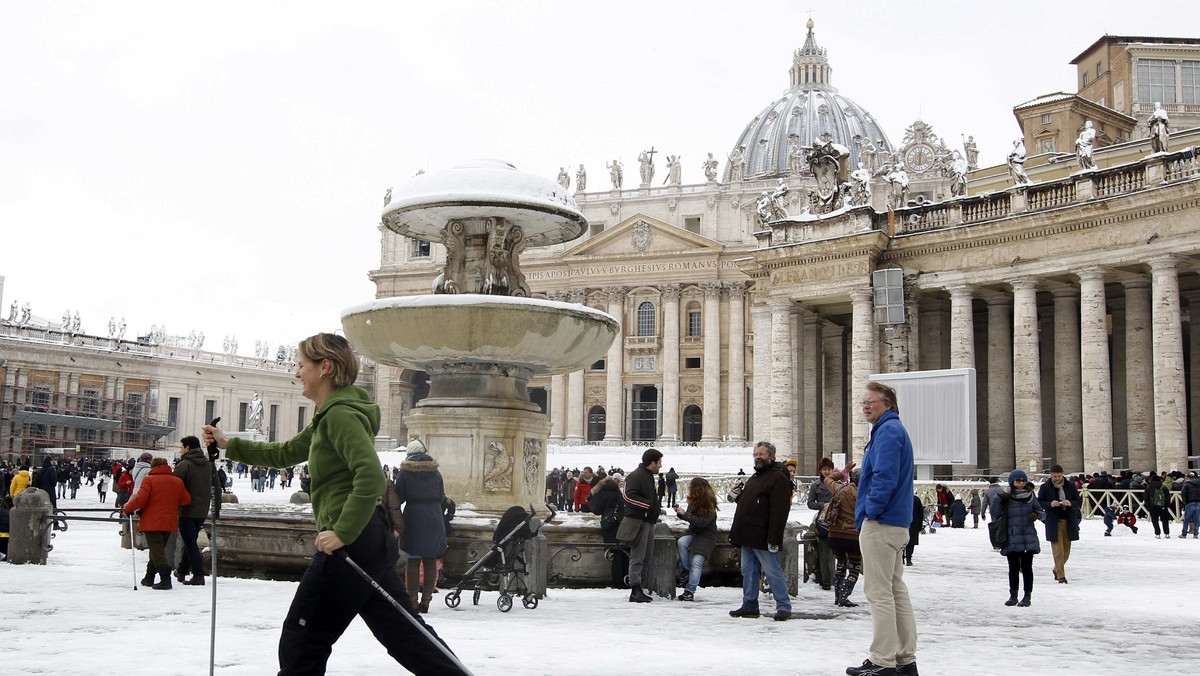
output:
[[[296,379],[317,406],[312,423],[282,443],[227,439],[205,426],[205,444],[235,462],[263,467],[308,463],[317,554],[296,588],[280,635],[280,676],[324,674],[334,642],[361,616],[388,653],[414,674],[462,674],[398,611],[334,552],[344,548],[416,620],[380,498],[385,480],[374,451],[379,407],[354,387],[359,361],[346,339],[317,334],[300,342]],[[428,626],[426,624],[426,628]],[[428,628],[433,633],[432,628]],[[433,634],[437,636],[437,634]],[[440,639],[438,639],[440,640]]]

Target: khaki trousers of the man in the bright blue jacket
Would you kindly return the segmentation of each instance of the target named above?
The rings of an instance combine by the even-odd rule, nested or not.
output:
[[[863,521],[858,546],[863,551],[863,585],[871,604],[871,662],[880,666],[917,662],[917,622],[904,584],[901,554],[908,528]]]

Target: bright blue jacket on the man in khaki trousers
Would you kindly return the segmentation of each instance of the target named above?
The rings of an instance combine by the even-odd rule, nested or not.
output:
[[[912,524],[912,441],[900,415],[883,413],[871,426],[871,439],[863,451],[856,528],[862,531],[868,519],[901,528]]]

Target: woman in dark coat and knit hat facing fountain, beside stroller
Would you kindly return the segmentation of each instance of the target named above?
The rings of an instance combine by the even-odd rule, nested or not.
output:
[[[413,605],[420,612],[428,612],[438,582],[438,560],[446,552],[446,526],[442,518],[446,493],[438,461],[425,453],[425,444],[419,439],[409,442],[408,456],[400,465],[396,497],[404,503],[404,530],[400,536],[400,549],[408,555],[404,586]],[[418,590],[420,603],[416,600]]]

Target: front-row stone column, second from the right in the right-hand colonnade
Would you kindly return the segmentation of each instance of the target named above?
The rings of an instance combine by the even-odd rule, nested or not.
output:
[[[1112,469],[1112,393],[1109,373],[1108,304],[1104,297],[1104,270],[1086,268],[1079,273],[1079,339],[1081,415],[1084,429],[1084,466],[1068,467],[1058,442],[1058,463],[1068,472]],[[1058,309],[1055,307],[1055,315]],[[1057,328],[1055,335],[1058,335]]]

